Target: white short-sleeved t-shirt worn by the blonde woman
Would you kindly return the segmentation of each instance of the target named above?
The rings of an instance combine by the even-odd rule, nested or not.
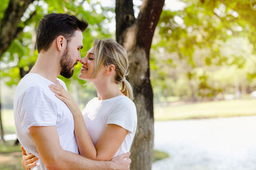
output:
[[[131,99],[124,95],[106,100],[95,97],[86,104],[83,117],[94,146],[106,124],[116,124],[126,129],[128,134],[114,157],[129,152],[137,127],[136,106]]]

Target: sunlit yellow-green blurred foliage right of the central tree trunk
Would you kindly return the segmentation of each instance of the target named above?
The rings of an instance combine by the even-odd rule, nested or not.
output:
[[[163,11],[157,25],[150,56],[155,101],[252,91],[256,72],[247,66],[255,63],[256,1],[182,2],[184,10]]]

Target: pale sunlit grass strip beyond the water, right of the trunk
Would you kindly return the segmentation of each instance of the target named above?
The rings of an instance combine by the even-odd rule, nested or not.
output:
[[[183,104],[180,106],[155,106],[156,121],[184,120],[191,118],[219,118],[256,115],[256,104],[252,99],[211,101]]]

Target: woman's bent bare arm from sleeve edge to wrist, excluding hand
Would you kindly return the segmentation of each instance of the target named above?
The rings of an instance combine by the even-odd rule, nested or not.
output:
[[[79,152],[84,157],[94,160],[111,160],[122,145],[128,131],[118,125],[108,124],[102,131],[96,147],[84,124],[83,117],[75,117],[75,134]],[[85,131],[84,131],[85,129]]]

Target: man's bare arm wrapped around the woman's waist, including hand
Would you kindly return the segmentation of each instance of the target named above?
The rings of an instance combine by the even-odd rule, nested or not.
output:
[[[47,169],[129,169],[131,160],[124,157],[113,161],[90,160],[72,152],[63,150],[60,146],[58,132],[55,126],[29,127],[36,149]]]

